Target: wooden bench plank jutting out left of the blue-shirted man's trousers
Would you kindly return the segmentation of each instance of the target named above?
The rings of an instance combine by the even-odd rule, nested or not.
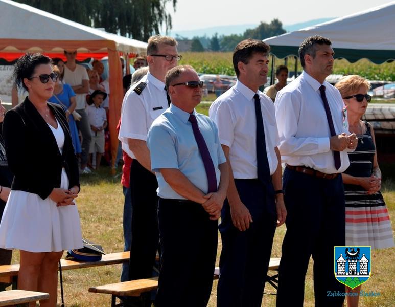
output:
[[[152,277],[91,287],[88,291],[93,293],[106,293],[119,296],[140,296],[140,294],[154,290],[157,287],[158,277]]]

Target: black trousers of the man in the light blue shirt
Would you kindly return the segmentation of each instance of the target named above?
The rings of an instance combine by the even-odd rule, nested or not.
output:
[[[155,306],[204,307],[210,299],[218,221],[201,204],[159,199],[160,271]]]

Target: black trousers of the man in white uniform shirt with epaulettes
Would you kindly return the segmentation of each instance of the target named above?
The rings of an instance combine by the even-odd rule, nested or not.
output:
[[[130,168],[132,239],[129,280],[152,277],[159,246],[157,187],[155,175],[133,160]]]

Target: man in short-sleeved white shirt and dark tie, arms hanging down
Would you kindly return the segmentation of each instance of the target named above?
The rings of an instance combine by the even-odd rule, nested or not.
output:
[[[285,222],[280,144],[267,81],[270,47],[246,39],[233,54],[236,85],[217,98],[210,118],[229,167],[217,306],[261,306],[276,226]]]

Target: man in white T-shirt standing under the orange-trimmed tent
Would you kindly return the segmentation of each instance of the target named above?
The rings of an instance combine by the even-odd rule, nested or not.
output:
[[[85,113],[85,102],[86,94],[89,93],[89,77],[86,69],[76,63],[76,50],[64,50],[64,55],[66,56],[67,63],[64,65],[63,82],[70,85],[74,93],[76,93],[76,111],[81,115],[81,120],[76,121],[77,127],[82,134],[81,172],[88,174],[91,173],[91,170],[86,166],[91,137],[89,121]]]

